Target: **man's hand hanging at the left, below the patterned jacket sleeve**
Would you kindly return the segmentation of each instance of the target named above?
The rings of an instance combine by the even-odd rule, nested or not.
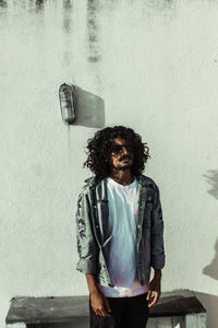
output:
[[[90,305],[97,316],[110,317],[110,305],[107,297],[98,290],[90,294]]]

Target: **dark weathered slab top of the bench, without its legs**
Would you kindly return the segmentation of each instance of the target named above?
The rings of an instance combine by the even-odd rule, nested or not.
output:
[[[189,316],[196,320],[206,311],[189,290],[164,292],[157,305],[150,308],[150,317]],[[88,320],[88,296],[13,297],[7,315],[7,327],[23,328],[26,324],[73,324]],[[12,326],[11,326],[12,325]],[[193,326],[195,327],[195,326]]]

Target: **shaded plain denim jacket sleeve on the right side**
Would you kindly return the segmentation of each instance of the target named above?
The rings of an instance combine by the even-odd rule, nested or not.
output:
[[[164,221],[157,185],[150,215],[150,266],[154,269],[162,269],[165,267]]]

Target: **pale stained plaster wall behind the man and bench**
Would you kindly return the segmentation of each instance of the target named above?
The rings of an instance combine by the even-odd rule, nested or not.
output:
[[[86,294],[74,213],[97,128],[61,120],[58,87],[105,102],[133,127],[160,187],[162,290],[190,289],[218,327],[218,3],[0,2],[0,313],[15,295]]]

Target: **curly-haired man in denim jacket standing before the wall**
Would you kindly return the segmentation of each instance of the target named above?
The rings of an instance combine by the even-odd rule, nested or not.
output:
[[[145,328],[165,266],[159,189],[142,174],[149,149],[123,126],[97,131],[87,149],[94,176],[77,202],[76,269],[87,279],[90,328]]]

